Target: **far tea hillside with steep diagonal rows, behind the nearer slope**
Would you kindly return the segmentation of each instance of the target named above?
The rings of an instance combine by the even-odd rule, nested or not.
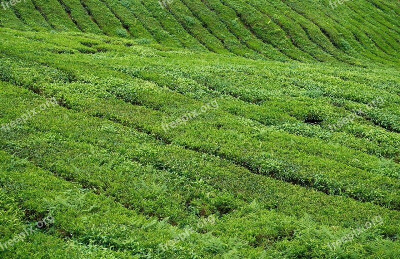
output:
[[[398,64],[394,0],[24,0],[0,26],[95,33],[253,59]],[[337,7],[335,7],[337,6]],[[332,8],[333,7],[333,8]]]

